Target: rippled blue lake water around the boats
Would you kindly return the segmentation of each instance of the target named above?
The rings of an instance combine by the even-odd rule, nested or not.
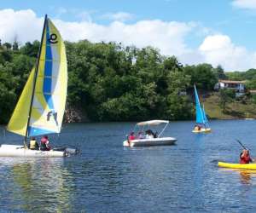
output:
[[[243,141],[256,158],[256,121],[212,121],[212,133],[191,133],[173,122],[170,147],[125,148],[134,123],[67,124],[54,144],[70,144],[72,158],[0,158],[0,211],[16,212],[253,212],[256,173],[224,170],[237,162]],[[5,136],[4,136],[5,135]],[[0,143],[20,143],[5,133]]]

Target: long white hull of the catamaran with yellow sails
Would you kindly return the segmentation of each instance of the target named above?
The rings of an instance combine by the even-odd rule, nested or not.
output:
[[[3,144],[0,147],[0,157],[46,157],[46,158],[58,158],[65,157],[66,152],[63,151],[41,151],[31,150],[18,145],[7,145]]]

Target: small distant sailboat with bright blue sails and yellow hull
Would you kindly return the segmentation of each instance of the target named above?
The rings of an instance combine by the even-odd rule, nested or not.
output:
[[[211,128],[209,126],[209,122],[207,119],[207,114],[205,112],[204,106],[201,107],[200,100],[194,85],[195,89],[195,113],[196,113],[196,124],[194,130],[192,132],[194,133],[201,133],[201,132],[210,132]]]

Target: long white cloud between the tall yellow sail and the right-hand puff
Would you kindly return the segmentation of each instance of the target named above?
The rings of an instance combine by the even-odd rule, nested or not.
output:
[[[56,20],[55,24],[60,27],[63,37],[67,40],[77,41],[86,38],[93,42],[116,41],[139,48],[150,45],[160,49],[165,55],[183,54],[186,51],[183,39],[193,28],[192,23],[161,20],[142,20],[133,25],[114,21],[109,26],[88,22],[68,23],[61,20]]]

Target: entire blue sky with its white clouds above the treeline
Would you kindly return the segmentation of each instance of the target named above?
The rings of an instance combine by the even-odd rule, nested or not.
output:
[[[6,9],[12,9],[8,14],[14,20],[4,19]],[[177,55],[183,63],[208,62],[226,70],[256,66],[256,0],[2,0],[0,26],[13,25],[13,33],[23,43],[20,11],[27,14],[24,26],[29,28],[27,20],[34,19],[32,29],[38,29],[44,14],[49,14],[67,40],[152,45],[164,55]],[[11,40],[11,33],[0,28],[2,39]],[[26,40],[38,38],[40,32],[34,34]],[[247,60],[238,63],[243,57]]]

